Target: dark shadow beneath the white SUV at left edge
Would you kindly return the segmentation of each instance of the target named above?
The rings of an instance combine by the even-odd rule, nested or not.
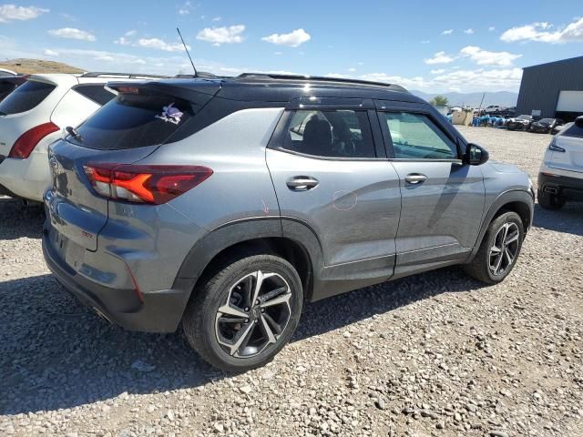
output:
[[[0,240],[40,239],[43,235],[45,209],[40,204],[24,206],[21,200],[0,197]]]

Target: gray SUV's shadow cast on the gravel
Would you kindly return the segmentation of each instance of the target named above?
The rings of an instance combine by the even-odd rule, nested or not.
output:
[[[309,304],[293,341],[467,287],[459,269],[443,269]],[[190,350],[181,330],[148,334],[109,325],[51,275],[0,282],[0,309],[0,414],[55,411],[229,376]]]

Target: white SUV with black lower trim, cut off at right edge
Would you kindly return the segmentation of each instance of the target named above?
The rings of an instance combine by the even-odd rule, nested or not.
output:
[[[563,208],[567,200],[583,201],[583,117],[553,137],[538,174],[542,208]]]

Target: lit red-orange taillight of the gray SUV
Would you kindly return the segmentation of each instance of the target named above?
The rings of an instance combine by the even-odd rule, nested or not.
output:
[[[202,166],[134,166],[87,163],[91,186],[106,198],[159,205],[186,193],[212,175]]]

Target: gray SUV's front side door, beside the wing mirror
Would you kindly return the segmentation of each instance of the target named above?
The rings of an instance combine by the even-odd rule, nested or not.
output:
[[[428,105],[378,102],[391,164],[400,179],[398,275],[453,263],[476,244],[485,205],[481,168],[462,161],[455,129]]]

